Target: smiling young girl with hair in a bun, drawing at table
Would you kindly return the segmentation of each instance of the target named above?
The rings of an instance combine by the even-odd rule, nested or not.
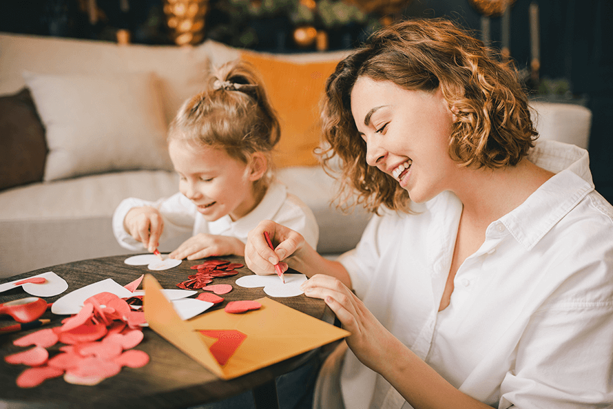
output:
[[[170,125],[168,150],[180,193],[157,202],[123,200],[113,217],[119,244],[154,251],[167,238],[191,232],[170,258],[243,255],[247,233],[271,219],[315,247],[315,216],[273,179],[271,151],[279,138],[278,118],[253,67],[227,63]]]

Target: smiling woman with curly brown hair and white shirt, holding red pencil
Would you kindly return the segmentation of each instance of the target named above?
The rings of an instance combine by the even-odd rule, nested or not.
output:
[[[342,182],[375,216],[336,261],[274,222],[245,249],[260,274],[292,255],[351,332],[318,407],[612,407],[613,207],[588,152],[537,143],[515,73],[449,21],[382,29],[326,96]]]

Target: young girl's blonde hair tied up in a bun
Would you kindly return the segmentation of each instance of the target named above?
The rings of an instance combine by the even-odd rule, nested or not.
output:
[[[280,136],[277,114],[256,68],[236,60],[214,70],[205,90],[183,103],[170,124],[168,143],[225,149],[245,163],[250,154],[262,152],[269,171],[258,183],[267,186],[273,172],[271,151]]]

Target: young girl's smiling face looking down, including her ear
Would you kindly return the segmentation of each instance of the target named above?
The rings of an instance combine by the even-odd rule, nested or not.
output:
[[[236,221],[258,204],[253,182],[265,171],[259,168],[261,157],[245,164],[225,149],[194,147],[177,140],[169,143],[168,150],[180,176],[179,191],[196,204],[205,220],[213,222],[229,215]]]

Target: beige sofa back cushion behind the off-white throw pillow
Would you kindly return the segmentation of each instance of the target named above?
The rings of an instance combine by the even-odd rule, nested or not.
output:
[[[160,78],[167,122],[174,118],[185,99],[202,90],[209,70],[209,48],[200,46],[118,45],[107,41],[0,33],[0,50],[0,94],[20,90],[25,85],[23,71],[41,74],[154,72]],[[233,53],[233,58],[236,56],[238,52]],[[219,57],[225,58],[224,53]]]

